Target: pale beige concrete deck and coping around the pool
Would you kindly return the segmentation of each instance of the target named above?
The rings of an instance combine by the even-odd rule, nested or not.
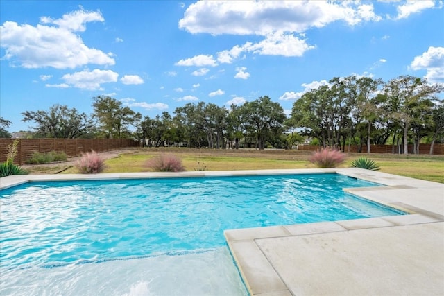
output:
[[[340,173],[385,186],[349,193],[410,215],[225,230],[250,295],[444,295],[444,184],[359,168],[97,175],[15,175],[0,189],[42,180]]]

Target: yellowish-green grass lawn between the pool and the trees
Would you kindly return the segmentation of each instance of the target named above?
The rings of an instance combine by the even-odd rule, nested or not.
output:
[[[160,153],[173,153],[182,159],[187,171],[230,171],[271,168],[314,168],[309,162],[311,153],[298,150],[207,150],[188,148],[137,148],[107,159],[105,173],[150,171],[146,162]],[[389,155],[348,153],[341,167],[350,166],[357,157],[373,159],[380,171],[444,183],[444,156]],[[32,172],[31,172],[32,173]],[[76,173],[68,168],[62,173]]]

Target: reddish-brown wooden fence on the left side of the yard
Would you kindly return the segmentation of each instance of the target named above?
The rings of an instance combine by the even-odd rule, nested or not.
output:
[[[131,139],[0,139],[0,162],[6,161],[8,146],[15,140],[19,141],[15,164],[24,164],[35,152],[65,152],[68,157],[76,157],[91,150],[103,152],[139,146],[138,141]]]

